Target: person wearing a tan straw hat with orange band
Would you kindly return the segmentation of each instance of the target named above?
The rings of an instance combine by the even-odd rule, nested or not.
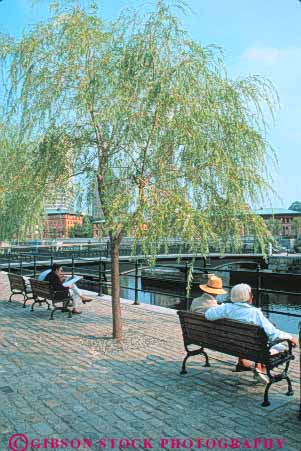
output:
[[[192,301],[190,310],[194,313],[205,313],[208,308],[217,307],[216,296],[227,293],[223,289],[222,279],[214,274],[209,276],[205,285],[199,285],[199,287],[204,293]]]

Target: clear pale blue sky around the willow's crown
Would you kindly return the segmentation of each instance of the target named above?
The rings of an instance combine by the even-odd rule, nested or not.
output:
[[[83,0],[84,2],[84,0]],[[24,27],[46,16],[49,0],[34,8],[30,0],[0,2],[0,29],[19,35]],[[124,7],[143,9],[141,0],[100,0],[104,18],[114,19]],[[274,207],[301,200],[301,3],[298,0],[187,0],[193,13],[182,17],[190,36],[225,52],[232,77],[267,76],[277,88],[281,109],[271,123],[269,140],[279,168],[274,174],[280,199]],[[263,206],[270,206],[267,201]]]

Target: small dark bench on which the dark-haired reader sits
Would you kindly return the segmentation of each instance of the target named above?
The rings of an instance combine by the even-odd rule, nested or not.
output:
[[[54,291],[51,288],[51,285],[47,281],[40,281],[36,279],[30,279],[32,295],[34,302],[31,306],[31,311],[34,310],[34,305],[36,303],[45,302],[48,305],[48,309],[50,309],[50,303],[54,307],[51,311],[51,315],[49,319],[54,319],[54,313],[56,310],[61,310],[63,312],[68,312],[69,318],[72,318],[72,312],[68,310],[68,306],[71,303],[71,297],[69,293],[65,291]]]

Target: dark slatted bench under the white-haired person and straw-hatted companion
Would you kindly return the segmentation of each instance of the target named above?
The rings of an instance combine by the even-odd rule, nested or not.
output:
[[[288,396],[293,395],[292,384],[287,375],[290,362],[294,359],[292,344],[289,340],[274,342],[273,345],[286,341],[288,350],[271,355],[272,344],[268,342],[268,337],[259,326],[229,319],[207,321],[205,316],[200,313],[186,311],[179,311],[178,315],[182,327],[184,347],[187,352],[182,363],[181,374],[187,373],[186,361],[191,356],[203,355],[205,366],[210,366],[205,349],[211,349],[266,365],[269,382],[264,391],[262,406],[270,405],[269,389],[275,382],[286,380],[288,385],[286,394]],[[199,349],[189,349],[191,345],[196,345]],[[275,374],[274,369],[280,365],[284,365],[284,368]],[[273,374],[271,371],[273,371]]]

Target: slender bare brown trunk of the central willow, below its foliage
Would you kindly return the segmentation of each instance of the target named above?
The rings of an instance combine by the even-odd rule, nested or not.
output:
[[[113,338],[122,340],[122,320],[120,307],[120,282],[119,282],[119,246],[121,235],[110,236],[111,240],[111,274],[112,274],[112,317]]]

